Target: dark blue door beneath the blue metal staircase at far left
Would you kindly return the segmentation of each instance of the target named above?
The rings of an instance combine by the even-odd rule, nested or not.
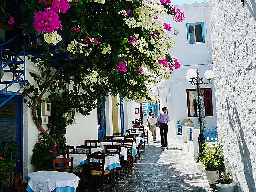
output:
[[[8,97],[1,95],[0,103],[4,102]],[[0,140],[9,140],[11,137],[18,144],[20,153],[19,160],[14,174],[23,172],[23,105],[22,97],[15,95],[11,100],[0,107]],[[7,127],[10,129],[6,132]]]

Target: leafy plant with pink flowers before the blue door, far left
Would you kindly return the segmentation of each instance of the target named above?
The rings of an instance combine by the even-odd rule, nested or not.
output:
[[[12,180],[14,179],[13,170],[19,162],[18,143],[10,138],[8,141],[0,142],[0,191],[2,188],[8,189],[10,182],[10,172],[12,172]],[[11,156],[12,152],[12,156]]]

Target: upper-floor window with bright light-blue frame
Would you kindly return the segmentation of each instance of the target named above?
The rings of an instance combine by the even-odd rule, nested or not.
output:
[[[188,43],[205,42],[204,22],[187,23]]]

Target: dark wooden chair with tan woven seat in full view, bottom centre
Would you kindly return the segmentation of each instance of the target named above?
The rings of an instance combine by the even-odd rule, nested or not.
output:
[[[87,155],[89,172],[90,172],[90,192],[92,192],[93,178],[94,178],[94,191],[96,191],[96,185],[98,185],[98,183],[101,183],[101,192],[103,192],[103,189],[107,187],[110,187],[110,192],[112,192],[112,172],[108,170],[104,170],[105,155],[88,154],[88,153],[86,155]],[[99,159],[99,162],[93,162],[91,161],[91,159]],[[104,182],[109,182],[109,186],[104,187]]]

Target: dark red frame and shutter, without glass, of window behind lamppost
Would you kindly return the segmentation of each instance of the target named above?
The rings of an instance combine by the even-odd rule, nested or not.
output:
[[[204,104],[205,104],[205,116],[213,116],[213,107],[212,107],[212,88],[202,88],[201,91],[204,91]],[[190,112],[190,101],[189,101],[189,91],[196,91],[196,89],[187,89],[187,108],[188,108],[188,117],[197,117],[191,116]]]

